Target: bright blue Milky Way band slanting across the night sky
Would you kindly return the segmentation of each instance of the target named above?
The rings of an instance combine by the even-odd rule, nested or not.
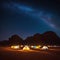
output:
[[[36,9],[30,8],[29,6],[25,6],[23,4],[21,5],[21,4],[17,4],[17,3],[9,3],[9,4],[5,3],[4,6],[7,8],[17,10],[17,11],[19,10],[19,12],[22,11],[25,14],[31,15],[33,17],[40,18],[41,20],[43,20],[45,23],[47,23],[48,25],[50,25],[53,28],[57,27],[57,25],[54,24],[54,22],[52,22],[52,20],[55,19],[53,14],[49,14],[44,11],[38,11]]]

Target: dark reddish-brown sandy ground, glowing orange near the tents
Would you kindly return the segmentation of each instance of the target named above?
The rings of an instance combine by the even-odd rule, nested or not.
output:
[[[0,47],[0,60],[60,60],[60,48],[22,51]]]

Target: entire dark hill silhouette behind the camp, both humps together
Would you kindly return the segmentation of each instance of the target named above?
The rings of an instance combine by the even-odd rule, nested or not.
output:
[[[12,35],[9,40],[0,41],[0,45],[60,45],[60,37],[55,32],[47,31],[43,34],[36,33],[33,36],[27,37],[23,40],[18,35]]]

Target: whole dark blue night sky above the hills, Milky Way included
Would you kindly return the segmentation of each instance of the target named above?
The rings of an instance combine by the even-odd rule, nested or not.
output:
[[[14,34],[24,39],[46,31],[60,36],[59,0],[3,0],[0,10],[0,40]]]

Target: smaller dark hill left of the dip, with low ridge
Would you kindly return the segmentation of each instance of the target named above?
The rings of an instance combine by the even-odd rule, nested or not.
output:
[[[9,37],[9,40],[0,41],[0,46],[10,46],[18,44],[23,44],[23,39],[16,34]]]

